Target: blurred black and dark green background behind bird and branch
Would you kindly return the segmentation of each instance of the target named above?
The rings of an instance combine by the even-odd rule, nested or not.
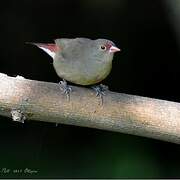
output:
[[[103,82],[110,90],[180,102],[179,0],[1,3],[0,72],[59,82],[51,58],[25,42],[107,38],[123,50]],[[179,162],[180,145],[0,117],[1,178],[180,178]],[[37,173],[12,172],[25,168]]]

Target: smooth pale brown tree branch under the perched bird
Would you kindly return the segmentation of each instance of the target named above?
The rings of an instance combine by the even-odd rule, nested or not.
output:
[[[179,103],[107,91],[100,105],[101,100],[93,90],[76,86],[72,90],[68,101],[58,84],[0,73],[0,115],[11,117],[18,110],[14,114],[22,112],[23,120],[64,123],[180,143]]]

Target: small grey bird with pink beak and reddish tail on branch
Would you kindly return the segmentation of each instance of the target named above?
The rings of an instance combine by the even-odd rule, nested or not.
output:
[[[111,40],[83,37],[58,38],[54,43],[30,44],[51,56],[57,75],[63,79],[60,87],[67,95],[71,91],[67,81],[87,86],[104,80],[111,72],[114,53],[121,51]],[[103,91],[103,87],[94,86],[94,89],[97,95]]]

